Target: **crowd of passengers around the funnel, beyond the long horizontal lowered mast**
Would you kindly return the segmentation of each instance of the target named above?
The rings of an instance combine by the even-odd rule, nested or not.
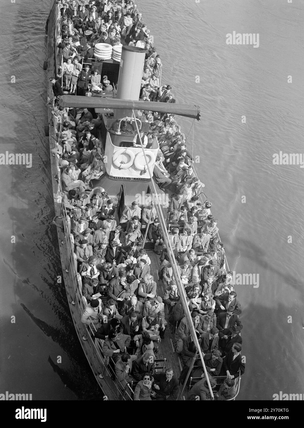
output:
[[[61,49],[63,65],[54,77],[55,96],[70,94],[88,95],[90,91],[113,91],[115,82],[108,76],[101,76],[98,69],[92,70],[94,46],[105,43],[111,46],[129,45],[146,51],[140,99],[161,100],[174,103],[168,91],[170,87],[160,87],[161,59],[153,46],[142,15],[132,0],[60,0],[61,35],[56,45]],[[61,86],[62,79],[62,86]]]

